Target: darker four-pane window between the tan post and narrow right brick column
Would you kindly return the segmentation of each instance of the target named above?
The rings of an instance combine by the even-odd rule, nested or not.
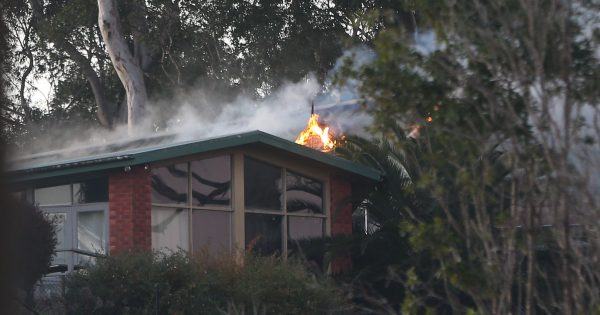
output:
[[[322,237],[323,200],[323,182],[246,157],[246,248],[265,255],[289,253],[300,240]]]

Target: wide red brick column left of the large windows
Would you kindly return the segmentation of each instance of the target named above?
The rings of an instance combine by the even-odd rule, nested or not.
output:
[[[121,170],[108,178],[110,253],[151,249],[150,171]]]

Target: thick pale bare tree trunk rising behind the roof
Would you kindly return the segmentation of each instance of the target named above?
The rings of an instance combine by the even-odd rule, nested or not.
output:
[[[98,0],[98,26],[110,60],[125,87],[127,126],[129,134],[132,134],[144,115],[147,100],[146,85],[140,64],[129,50],[121,32],[119,13],[114,0]]]

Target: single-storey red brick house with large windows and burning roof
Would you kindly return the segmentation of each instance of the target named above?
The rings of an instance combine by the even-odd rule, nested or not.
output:
[[[295,240],[352,232],[349,197],[374,169],[253,131],[45,152],[9,166],[16,194],[57,225],[57,271],[130,249],[286,256]]]

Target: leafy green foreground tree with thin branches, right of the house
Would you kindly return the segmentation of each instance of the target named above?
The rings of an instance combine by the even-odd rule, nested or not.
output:
[[[412,224],[411,249],[438,264],[455,311],[592,312],[600,63],[587,27],[598,8],[465,0],[415,10],[435,41],[417,49],[413,34],[386,29],[378,58],[353,73],[374,130],[421,126],[414,185],[438,220]],[[428,284],[412,276],[402,275]]]

